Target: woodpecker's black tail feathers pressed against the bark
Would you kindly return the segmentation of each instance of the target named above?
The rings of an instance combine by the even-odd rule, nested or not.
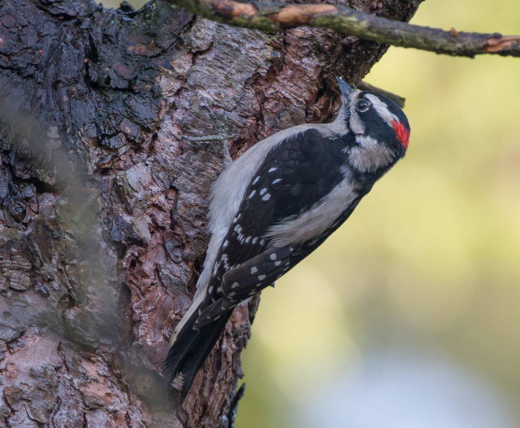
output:
[[[163,377],[170,385],[178,373],[184,376],[181,391],[183,400],[188,394],[197,372],[210,355],[213,346],[220,337],[220,333],[224,330],[232,312],[230,310],[213,323],[200,330],[195,330],[193,326],[198,317],[198,311],[196,311],[179,331],[175,342],[168,351],[163,367]]]

